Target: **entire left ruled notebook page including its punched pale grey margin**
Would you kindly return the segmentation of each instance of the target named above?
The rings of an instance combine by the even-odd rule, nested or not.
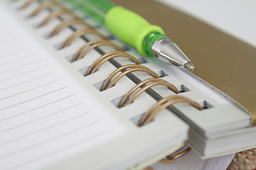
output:
[[[56,50],[55,45],[73,30],[65,29],[46,39],[44,35],[56,22],[54,26],[50,23],[35,28],[49,13],[44,11],[28,19],[36,6],[17,11],[21,4],[5,4],[9,8],[6,11],[0,7],[0,19],[6,25],[0,30],[2,48],[7,41],[10,46],[18,44],[18,49],[11,51],[13,58],[0,59],[4,64],[0,85],[2,169],[136,169],[144,162],[153,164],[157,155],[164,157],[163,153],[174,152],[174,146],[187,140],[188,125],[166,112],[157,121],[138,128],[132,118],[141,116],[156,101],[144,95],[140,98],[146,101],[144,105],[138,100],[131,107],[116,108],[111,101],[134,83],[122,79],[112,89],[98,91],[93,85],[116,68],[106,63],[100,72],[83,77],[80,69],[92,64],[100,54],[91,50],[85,59],[68,62],[66,57],[85,41],[78,38],[65,49]],[[9,51],[7,54],[11,56]]]

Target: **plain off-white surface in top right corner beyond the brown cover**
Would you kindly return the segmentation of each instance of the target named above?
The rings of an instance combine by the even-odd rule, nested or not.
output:
[[[255,0],[158,0],[256,47]]]

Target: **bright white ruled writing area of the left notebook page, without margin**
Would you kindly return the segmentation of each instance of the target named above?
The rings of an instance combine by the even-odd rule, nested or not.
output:
[[[41,167],[124,132],[93,96],[80,98],[2,6],[0,21],[0,169]]]

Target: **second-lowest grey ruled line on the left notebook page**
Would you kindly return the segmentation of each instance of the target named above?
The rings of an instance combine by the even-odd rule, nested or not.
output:
[[[35,147],[40,147],[41,145],[45,145],[45,144],[48,143],[48,142],[53,142],[54,140],[58,140],[58,139],[60,139],[61,137],[65,137],[65,136],[71,135],[71,134],[73,134],[73,133],[75,133],[75,132],[78,132],[78,131],[80,131],[80,130],[83,130],[83,129],[85,129],[85,128],[88,128],[88,127],[90,127],[90,126],[92,126],[92,125],[95,125],[95,124],[97,124],[97,123],[100,123],[100,120],[95,120],[95,121],[93,121],[93,122],[91,122],[91,123],[87,123],[86,125],[82,125],[82,126],[80,126],[79,128],[75,128],[74,130],[70,130],[70,131],[65,132],[65,133],[63,133],[63,134],[57,135],[57,136],[55,136],[55,137],[52,137],[52,138],[50,138],[50,139],[48,139],[48,140],[43,140],[43,141],[38,142],[38,143],[36,143],[36,144],[34,144],[34,145],[31,145],[31,146],[29,146],[29,147],[24,147],[23,149],[18,149],[18,150],[15,151],[15,152],[11,152],[11,153],[9,153],[9,154],[5,154],[5,155],[3,155],[3,156],[0,156],[0,160],[1,160],[1,159],[6,159],[6,158],[9,158],[9,157],[13,157],[13,156],[16,155],[16,154],[20,154],[20,153],[22,153],[22,152],[26,152],[27,150],[33,149],[33,148],[35,148]]]

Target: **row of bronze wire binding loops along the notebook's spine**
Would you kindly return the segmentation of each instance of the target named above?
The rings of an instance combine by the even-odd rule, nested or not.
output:
[[[14,0],[14,1],[17,1],[17,0]],[[21,9],[27,8],[28,6],[30,6],[31,4],[33,4],[36,1],[40,1],[40,0],[27,0],[21,6]],[[105,53],[105,55],[102,55],[97,60],[95,60],[95,62],[93,62],[93,64],[87,70],[87,73],[85,74],[85,76],[87,76],[89,74],[93,74],[94,72],[97,71],[97,69],[100,68],[100,66],[103,63],[107,62],[108,60],[111,60],[114,57],[127,57],[129,60],[131,60],[132,62],[135,63],[135,64],[126,64],[126,65],[123,65],[122,67],[115,69],[114,72],[112,72],[109,75],[109,77],[107,77],[107,79],[105,80],[101,91],[110,89],[112,86],[114,86],[114,84],[117,83],[117,81],[119,81],[119,79],[121,79],[122,77],[124,77],[127,74],[132,73],[132,72],[146,72],[146,73],[150,74],[152,77],[154,77],[154,78],[145,79],[144,81],[139,82],[130,91],[128,91],[127,94],[124,96],[124,98],[122,98],[122,101],[119,104],[119,108],[122,108],[125,104],[128,105],[129,103],[132,103],[135,98],[137,98],[140,94],[142,94],[147,89],[150,89],[152,86],[164,85],[164,86],[168,87],[171,91],[174,91],[175,94],[179,93],[176,86],[174,86],[173,84],[170,84],[168,81],[165,81],[163,79],[158,79],[159,76],[155,72],[153,72],[151,69],[149,69],[147,67],[139,65],[139,61],[136,58],[132,57],[132,55],[129,55],[126,52],[123,52],[121,47],[119,47],[119,46],[115,45],[113,42],[110,42],[109,40],[107,40],[105,35],[102,35],[101,33],[97,32],[94,28],[92,28],[92,26],[85,23],[85,21],[82,21],[80,18],[75,16],[74,13],[70,12],[67,8],[62,6],[62,4],[60,4],[56,1],[43,2],[40,6],[38,6],[38,8],[36,8],[31,13],[31,17],[38,15],[38,13],[40,13],[43,10],[47,10],[48,8],[55,7],[55,6],[58,6],[60,8],[58,8],[57,10],[51,11],[50,14],[48,16],[46,16],[46,18],[44,18],[43,21],[39,24],[39,27],[45,26],[46,24],[49,23],[49,21],[51,19],[57,18],[61,15],[70,15],[70,16],[73,16],[73,18],[61,21],[58,24],[58,26],[53,28],[53,30],[50,32],[50,35],[48,38],[51,38],[54,35],[58,35],[58,33],[60,33],[60,31],[63,30],[64,28],[74,26],[75,24],[82,24],[84,26],[87,26],[87,28],[76,30],[74,33],[72,33],[61,44],[60,49],[63,49],[65,47],[67,47],[68,45],[70,45],[76,38],[79,38],[79,37],[89,34],[89,33],[98,35],[100,38],[102,38],[99,40],[92,40],[90,42],[85,42],[85,44],[82,45],[82,47],[80,47],[80,49],[77,52],[75,52],[75,55],[71,62],[80,60],[82,57],[84,57],[87,54],[87,52],[89,52],[90,50],[92,50],[96,47],[99,47],[101,45],[109,45],[109,46],[114,47],[114,49],[117,50],[117,51],[107,52],[107,53]],[[113,79],[113,77],[115,75],[117,75],[119,72],[122,72],[122,73]],[[111,79],[113,79],[113,80],[111,81]],[[137,91],[137,92],[135,92],[135,91]],[[132,94],[134,94],[134,95],[131,97]],[[138,126],[146,125],[147,123],[151,122],[151,120],[153,120],[153,118],[161,110],[163,110],[164,108],[166,108],[168,106],[173,105],[174,103],[180,103],[180,102],[190,103],[193,107],[198,108],[198,110],[203,109],[198,103],[196,103],[195,101],[192,101],[189,98],[185,98],[183,96],[168,96],[166,98],[162,98],[156,104],[154,104],[154,106],[152,106],[149,109],[149,111],[147,111],[144,114],[144,116],[140,120]],[[174,159],[177,159],[178,157],[182,157],[184,154],[187,154],[188,152],[191,151],[190,147],[188,147],[186,149],[184,149],[184,147],[186,147],[185,144],[183,145],[183,147],[178,149],[176,152],[167,156],[166,159],[161,159],[160,162],[174,163]],[[180,152],[181,149],[184,149],[184,150],[182,152]]]

